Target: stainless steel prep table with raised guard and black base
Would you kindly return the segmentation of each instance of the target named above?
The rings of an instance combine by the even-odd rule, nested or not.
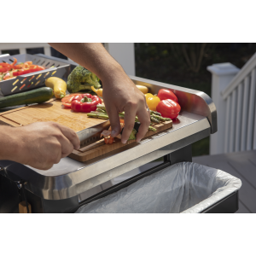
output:
[[[173,122],[172,129],[84,163],[67,157],[46,172],[15,162],[0,161],[1,182],[13,183],[10,191],[10,186],[2,186],[5,189],[7,186],[9,189],[5,191],[9,192],[1,191],[0,212],[17,212],[15,205],[18,199],[15,192],[12,192],[16,189],[17,181],[25,182],[26,196],[32,204],[32,212],[75,212],[85,203],[112,193],[145,175],[180,161],[192,161],[191,144],[217,131],[217,113],[211,98],[201,91],[132,76],[131,79],[135,84],[148,86],[153,94],[161,88],[168,88],[177,95],[183,111]],[[160,166],[143,172],[126,183],[118,184],[116,188],[109,188],[107,192],[79,201],[79,195],[85,191],[160,157],[164,157]]]

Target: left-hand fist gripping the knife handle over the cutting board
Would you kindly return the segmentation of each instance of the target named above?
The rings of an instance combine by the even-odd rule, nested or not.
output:
[[[49,170],[80,147],[79,137],[73,130],[54,122],[12,129],[19,150],[15,161],[40,170]]]

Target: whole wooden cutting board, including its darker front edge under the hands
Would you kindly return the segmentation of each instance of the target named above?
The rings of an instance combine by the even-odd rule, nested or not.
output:
[[[76,132],[105,122],[103,119],[88,118],[86,113],[73,112],[70,110],[70,108],[64,108],[61,101],[56,99],[52,99],[43,104],[16,108],[0,113],[0,125],[11,125],[18,127],[21,125],[30,125],[35,122],[48,121],[65,125]],[[153,126],[157,131],[148,131],[145,137],[149,137],[160,131],[172,128],[172,121]],[[131,143],[136,142],[129,141],[126,144],[122,144],[120,140],[116,138],[113,144],[105,144],[104,140],[101,140],[87,147],[80,148],[79,151],[73,150],[73,154],[70,154],[69,157],[73,158],[74,160],[84,162],[99,157],[102,154],[108,154],[115,149],[125,147],[127,144]]]

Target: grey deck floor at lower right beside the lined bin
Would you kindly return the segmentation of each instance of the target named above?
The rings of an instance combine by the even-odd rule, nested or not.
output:
[[[239,210],[236,213],[256,213],[256,150],[231,154],[198,156],[193,162],[210,166],[241,179]]]

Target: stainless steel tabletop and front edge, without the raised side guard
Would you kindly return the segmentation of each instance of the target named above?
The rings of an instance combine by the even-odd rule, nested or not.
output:
[[[210,129],[207,118],[183,111],[172,129],[84,163],[65,158],[49,171],[40,171],[9,161],[4,166],[1,161],[1,166],[5,167],[6,172],[15,173],[26,180],[26,189],[41,198],[67,199],[195,143],[209,136]]]

